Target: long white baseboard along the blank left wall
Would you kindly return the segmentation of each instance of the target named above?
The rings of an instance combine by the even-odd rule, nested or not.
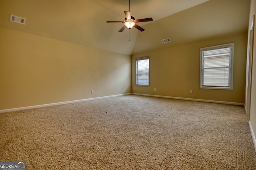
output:
[[[98,97],[98,98],[89,98],[89,99],[82,99],[82,100],[73,100],[73,101],[59,102],[59,103],[52,103],[52,104],[42,104],[42,105],[28,106],[28,107],[18,107],[18,108],[13,108],[13,109],[4,109],[4,110],[0,110],[0,113],[10,112],[10,111],[18,111],[18,110],[26,110],[26,109],[34,109],[34,108],[47,107],[47,106],[56,106],[56,105],[76,103],[76,102],[84,102],[84,101],[89,101],[89,100],[112,98],[112,97],[117,97],[117,96],[125,96],[125,95],[129,95],[129,94],[131,94],[131,93],[118,94],[118,95],[113,95],[113,96],[103,96],[103,97]]]

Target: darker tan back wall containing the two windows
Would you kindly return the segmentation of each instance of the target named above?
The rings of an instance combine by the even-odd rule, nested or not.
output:
[[[247,36],[246,32],[135,54],[132,56],[132,93],[244,104]],[[234,43],[233,90],[200,89],[200,48],[226,43]],[[150,56],[150,87],[135,86],[134,81],[134,59],[144,56]]]

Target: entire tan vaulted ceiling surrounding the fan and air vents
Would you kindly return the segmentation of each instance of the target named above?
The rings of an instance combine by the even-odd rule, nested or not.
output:
[[[247,31],[250,0],[131,0],[135,19],[118,32],[129,0],[0,0],[0,27],[126,55]],[[26,24],[10,21],[10,14]],[[1,37],[0,37],[1,38]],[[161,39],[170,38],[170,43]]]

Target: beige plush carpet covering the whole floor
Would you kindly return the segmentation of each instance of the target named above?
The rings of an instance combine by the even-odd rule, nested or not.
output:
[[[120,96],[1,113],[0,135],[27,170],[256,170],[242,106]]]

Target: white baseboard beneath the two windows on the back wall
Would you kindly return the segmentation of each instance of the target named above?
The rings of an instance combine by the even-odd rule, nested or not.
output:
[[[197,102],[210,102],[210,103],[232,104],[232,105],[244,106],[244,103],[236,103],[236,102],[224,102],[224,101],[192,99],[192,98],[179,98],[179,97],[158,96],[158,95],[151,95],[151,94],[138,94],[138,93],[132,93],[132,94],[140,95],[140,96],[152,96],[152,97],[159,97],[159,98],[170,98],[170,99],[179,99],[179,100],[191,100],[191,101],[197,101]]]

